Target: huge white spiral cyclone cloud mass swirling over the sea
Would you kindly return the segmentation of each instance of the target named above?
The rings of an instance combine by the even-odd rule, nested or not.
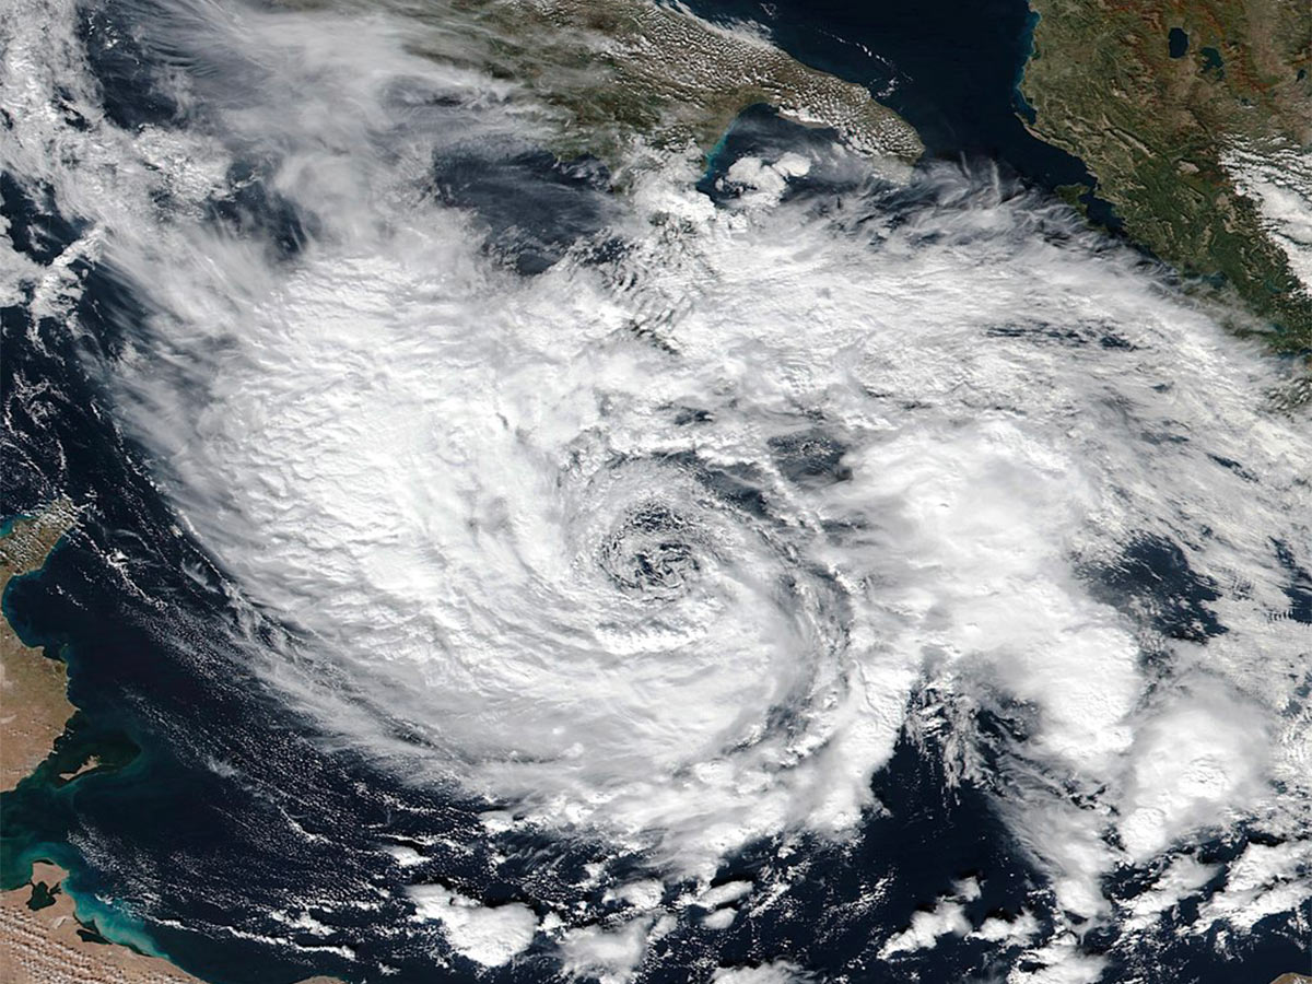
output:
[[[1307,404],[1152,258],[841,148],[707,195],[644,147],[615,194],[449,26],[169,10],[185,126],[39,109],[59,30],[96,98],[51,3],[7,152],[139,298],[87,371],[324,748],[673,884],[858,838],[913,735],[1057,935],[1118,866],[1308,821]]]

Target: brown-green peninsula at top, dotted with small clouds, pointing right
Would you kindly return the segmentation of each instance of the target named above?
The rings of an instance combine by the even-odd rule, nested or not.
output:
[[[653,0],[446,0],[403,4],[433,28],[421,52],[525,87],[548,106],[552,150],[613,169],[642,146],[710,151],[733,118],[768,104],[833,127],[854,150],[905,171],[914,129],[870,92],[802,64],[752,29],[732,30]]]

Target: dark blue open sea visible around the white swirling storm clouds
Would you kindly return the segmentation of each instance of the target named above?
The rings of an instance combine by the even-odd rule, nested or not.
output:
[[[795,56],[874,92],[892,84],[887,104],[917,127],[934,157],[992,161],[1043,188],[1092,186],[1078,160],[1023,126],[1017,84],[1031,14],[1022,0],[694,7],[765,20]],[[84,18],[108,112],[123,126],[173,125],[181,110],[152,88],[148,50],[134,55],[104,43],[101,31],[115,16],[112,5],[88,7]],[[744,118],[712,174],[761,140],[803,139],[768,117],[762,122],[754,110]],[[51,262],[79,235],[76,218],[52,195],[34,197],[8,177],[0,192],[16,248],[37,262]],[[294,253],[303,235],[298,219],[266,206],[258,209],[272,223],[265,232]],[[541,262],[530,257],[522,272]],[[615,858],[606,845],[581,840],[489,837],[479,813],[497,804],[415,789],[350,750],[325,750],[243,653],[218,642],[226,634],[216,627],[239,617],[223,572],[173,529],[140,449],[114,426],[89,369],[112,365],[125,325],[143,318],[140,300],[109,266],[83,264],[80,272],[85,290],[76,318],[84,331],[34,321],[26,304],[3,312],[0,516],[30,512],[59,493],[85,506],[45,569],[14,580],[3,600],[25,642],[67,661],[70,697],[80,708],[51,758],[0,800],[4,887],[25,882],[37,858],[64,865],[101,934],[165,954],[215,984],[278,984],[312,974],[357,984],[474,979],[474,966],[461,960],[434,970],[433,955],[447,953],[441,932],[412,922],[400,891],[416,882],[440,880],[489,905],[523,903],[539,914],[583,900],[589,920],[604,916],[615,903],[601,888],[580,890],[585,866],[607,861],[640,875],[642,857]],[[49,386],[33,396],[35,380]],[[1118,575],[1130,571],[1130,583],[1105,579],[1109,598],[1157,590],[1169,593],[1170,610],[1206,609],[1208,588],[1178,569],[1182,559],[1151,544],[1145,551],[1139,567]],[[266,631],[279,630],[270,623]],[[983,727],[1002,744],[1023,731],[1023,714]],[[59,779],[89,754],[105,765]],[[727,930],[681,921],[655,943],[644,979],[701,980],[707,967],[770,960],[792,962],[817,980],[991,979],[1000,970],[996,947],[979,939],[945,938],[896,967],[875,959],[888,932],[970,875],[983,886],[967,907],[972,921],[1044,911],[1048,888],[994,815],[991,792],[950,787],[937,748],[908,736],[875,778],[887,813],[869,817],[849,845],[815,842],[781,859],[777,844],[762,842],[727,862],[722,880],[786,884],[787,904],[744,912]],[[1237,830],[1206,846],[1200,859],[1233,858],[1246,837]],[[425,861],[401,870],[384,844],[411,846]],[[495,854],[509,861],[499,863]],[[1107,892],[1130,897],[1143,887],[1143,872],[1124,871]],[[270,920],[289,911],[308,911],[332,934]],[[1215,930],[1179,938],[1170,930],[1168,920],[1143,954],[1117,953],[1117,974],[1172,984],[1236,980],[1236,964],[1214,946]],[[1082,943],[1089,953],[1110,945],[1097,934]],[[1232,946],[1245,980],[1305,966],[1295,942],[1273,934]],[[554,958],[530,951],[480,979],[542,981],[555,972]]]

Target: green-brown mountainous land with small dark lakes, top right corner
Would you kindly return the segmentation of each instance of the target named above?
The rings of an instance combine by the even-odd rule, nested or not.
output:
[[[1312,294],[1227,157],[1312,148],[1308,0],[1031,0],[1030,129],[1081,157],[1126,232],[1312,350]],[[1172,56],[1172,29],[1187,50]],[[1182,39],[1177,37],[1177,42]]]

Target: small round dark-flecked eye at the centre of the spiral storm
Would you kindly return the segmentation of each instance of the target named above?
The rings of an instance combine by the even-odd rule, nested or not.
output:
[[[627,594],[674,598],[701,569],[686,518],[659,502],[631,510],[606,537],[600,563]]]

